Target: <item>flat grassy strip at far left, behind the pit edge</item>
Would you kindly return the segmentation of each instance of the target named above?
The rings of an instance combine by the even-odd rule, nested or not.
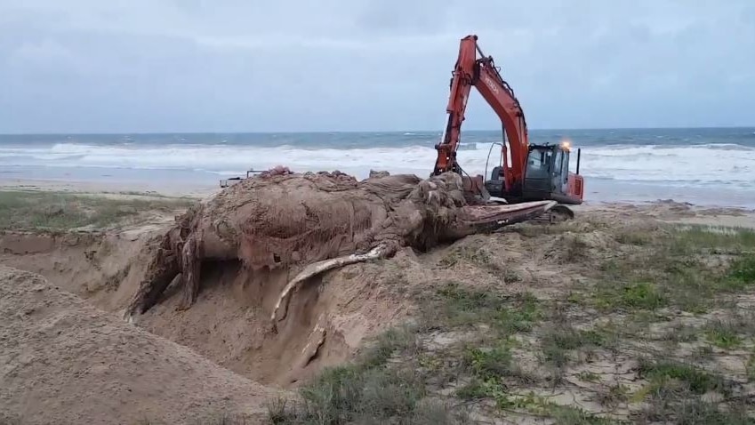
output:
[[[102,228],[149,210],[174,211],[189,198],[112,197],[45,191],[0,191],[0,230]]]

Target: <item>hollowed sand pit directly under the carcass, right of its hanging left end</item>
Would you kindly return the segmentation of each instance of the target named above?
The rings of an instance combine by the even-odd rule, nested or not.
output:
[[[169,288],[168,298],[135,316],[135,323],[253,381],[286,387],[346,360],[386,316],[362,314],[366,304],[385,303],[336,272],[299,286],[285,319],[274,326],[270,315],[287,281],[283,272],[250,276],[239,261],[210,261],[190,309],[181,309],[181,297]]]

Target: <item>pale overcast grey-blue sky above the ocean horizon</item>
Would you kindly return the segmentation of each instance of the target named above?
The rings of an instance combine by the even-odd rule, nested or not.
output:
[[[471,33],[530,128],[755,125],[753,0],[0,0],[0,132],[439,131]]]

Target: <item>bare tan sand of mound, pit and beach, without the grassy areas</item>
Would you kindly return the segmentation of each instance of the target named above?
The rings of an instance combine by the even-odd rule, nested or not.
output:
[[[65,186],[110,195],[141,191]],[[34,189],[60,188],[36,182]],[[666,201],[574,210],[579,226],[664,221],[755,229],[755,212],[726,205]],[[560,261],[560,239],[548,235],[473,236],[424,254],[404,249],[390,260],[309,282],[272,332],[269,312],[281,288],[248,280],[238,261],[223,261],[207,266],[191,309],[177,309],[180,297],[168,288],[155,308],[126,323],[124,309],[144,273],[149,246],[169,226],[166,220],[75,236],[0,235],[0,422],[196,423],[230,412],[251,415],[247,423],[255,423],[277,391],[348,360],[369,337],[410,317],[417,290],[449,279],[501,285],[486,267],[463,261],[449,266],[449,258],[463,260],[454,257],[458,250],[482,246],[518,274],[506,283],[507,291],[544,296],[562,296],[558,286],[590,265],[589,259],[578,266]],[[614,244],[601,232],[590,232],[588,246]]]

